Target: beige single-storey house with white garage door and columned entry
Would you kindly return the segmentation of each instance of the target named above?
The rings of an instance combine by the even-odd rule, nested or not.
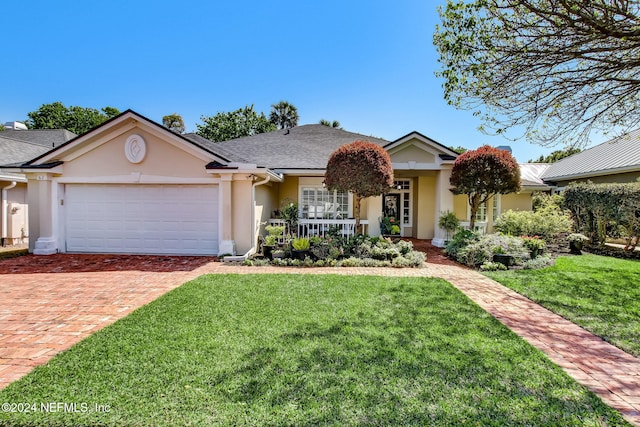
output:
[[[169,131],[127,110],[84,135],[20,165],[28,183],[29,244],[36,254],[113,252],[241,254],[256,250],[261,227],[288,202],[299,206],[299,231],[353,231],[353,198],[323,185],[331,152],[355,140],[384,147],[395,183],[363,201],[362,223],[380,233],[393,215],[401,235],[442,244],[447,210],[468,219],[465,196],[449,190],[456,153],[418,132],[386,141],[323,125],[213,143]],[[531,171],[518,194],[496,197],[479,221],[507,209],[531,209],[531,192],[548,188]],[[527,175],[528,176],[528,175]]]

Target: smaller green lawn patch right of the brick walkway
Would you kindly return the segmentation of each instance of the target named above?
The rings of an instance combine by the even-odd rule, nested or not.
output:
[[[486,275],[640,356],[640,262],[582,255],[541,270]]]

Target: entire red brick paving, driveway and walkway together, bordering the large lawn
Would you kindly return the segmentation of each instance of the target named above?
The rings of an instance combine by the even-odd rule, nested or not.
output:
[[[205,273],[441,277],[640,426],[640,359],[480,273],[424,269],[243,267],[204,258],[55,255],[0,261],[0,388],[115,320]],[[24,271],[30,268],[31,273]]]

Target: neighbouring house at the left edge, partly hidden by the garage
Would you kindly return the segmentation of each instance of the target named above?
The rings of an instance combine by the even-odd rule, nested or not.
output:
[[[15,123],[12,127],[22,129],[18,126],[21,123]],[[22,164],[74,136],[66,130],[0,131],[0,164]],[[0,244],[24,242],[29,235],[27,178],[24,174],[0,171],[0,207]]]

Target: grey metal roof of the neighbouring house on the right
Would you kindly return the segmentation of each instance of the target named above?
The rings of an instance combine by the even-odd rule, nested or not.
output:
[[[553,163],[542,178],[557,181],[633,169],[640,170],[640,129]]]

